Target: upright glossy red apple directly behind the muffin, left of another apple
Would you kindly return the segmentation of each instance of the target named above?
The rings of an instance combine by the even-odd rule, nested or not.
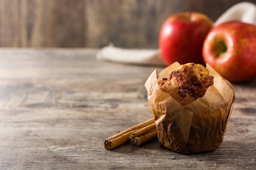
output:
[[[182,12],[168,17],[159,33],[159,49],[165,64],[204,64],[202,46],[212,27],[212,20],[202,13]]]

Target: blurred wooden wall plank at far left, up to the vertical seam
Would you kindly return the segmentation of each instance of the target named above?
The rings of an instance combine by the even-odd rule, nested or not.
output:
[[[0,46],[83,47],[83,0],[1,0]]]

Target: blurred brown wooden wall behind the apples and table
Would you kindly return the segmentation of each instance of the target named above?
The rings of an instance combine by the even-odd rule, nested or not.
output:
[[[247,0],[256,3],[256,0]],[[171,14],[216,20],[242,0],[0,0],[0,47],[158,47]]]

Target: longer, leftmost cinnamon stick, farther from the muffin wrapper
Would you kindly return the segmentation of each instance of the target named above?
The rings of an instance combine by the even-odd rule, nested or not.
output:
[[[111,149],[129,141],[130,140],[130,135],[132,135],[132,133],[137,132],[138,130],[140,130],[140,129],[148,126],[148,125],[151,125],[153,123],[155,123],[155,121],[152,118],[152,119],[144,121],[140,124],[132,126],[132,127],[128,128],[127,130],[124,130],[124,131],[118,133],[117,135],[114,135],[114,136],[106,139],[103,142],[103,146],[106,150],[111,150]]]

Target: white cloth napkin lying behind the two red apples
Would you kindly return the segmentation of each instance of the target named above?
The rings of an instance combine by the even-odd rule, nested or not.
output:
[[[256,25],[256,5],[251,2],[235,4],[220,15],[214,22],[214,26],[230,20],[240,20]],[[99,50],[96,58],[98,60],[129,64],[165,65],[159,49],[124,49],[115,47],[114,44],[109,44]]]

